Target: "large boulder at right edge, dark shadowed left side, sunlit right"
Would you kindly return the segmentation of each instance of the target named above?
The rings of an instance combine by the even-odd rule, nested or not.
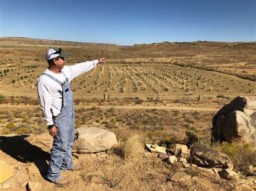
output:
[[[256,97],[238,96],[212,119],[214,142],[250,142],[255,145]]]

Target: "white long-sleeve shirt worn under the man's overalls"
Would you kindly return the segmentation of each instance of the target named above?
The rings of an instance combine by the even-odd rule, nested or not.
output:
[[[44,73],[55,77],[60,82],[65,82],[65,76],[68,77],[69,82],[75,77],[94,68],[98,60],[86,61],[77,63],[72,66],[64,66],[61,70],[62,73],[56,74],[51,70],[46,69]],[[65,74],[65,76],[63,75]],[[52,116],[58,116],[62,109],[62,86],[57,82],[50,79],[50,77],[41,75],[37,81],[37,93],[40,101],[40,107],[43,112],[43,117],[47,125],[52,125]]]

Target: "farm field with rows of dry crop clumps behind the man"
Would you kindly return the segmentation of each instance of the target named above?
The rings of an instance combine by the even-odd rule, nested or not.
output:
[[[4,95],[37,96],[36,82],[46,69],[39,64],[0,69]],[[172,64],[98,65],[72,81],[75,98],[129,96],[256,95],[256,82],[235,76]]]

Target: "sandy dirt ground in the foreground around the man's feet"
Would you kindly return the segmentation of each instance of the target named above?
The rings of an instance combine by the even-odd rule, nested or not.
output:
[[[26,140],[27,141],[26,141]],[[158,158],[158,154],[138,146],[136,153],[123,159],[110,151],[97,154],[74,153],[76,165],[84,167],[81,171],[62,171],[69,181],[64,188],[56,187],[43,176],[52,138],[48,133],[42,135],[1,136],[0,159],[15,167],[15,175],[0,185],[7,190],[25,190],[26,182],[40,182],[42,190],[230,190],[234,181],[220,178],[203,168],[184,168],[181,162],[169,165]],[[186,178],[166,180],[173,172],[186,172]]]

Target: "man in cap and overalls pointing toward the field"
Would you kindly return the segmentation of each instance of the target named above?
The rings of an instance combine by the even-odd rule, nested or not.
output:
[[[105,58],[64,66],[65,57],[61,48],[50,48],[46,52],[48,69],[39,77],[37,93],[43,117],[53,137],[51,158],[46,179],[58,186],[68,182],[62,178],[60,169],[76,171],[82,169],[72,161],[71,146],[74,140],[75,116],[70,81],[94,68],[97,63],[105,63]]]

